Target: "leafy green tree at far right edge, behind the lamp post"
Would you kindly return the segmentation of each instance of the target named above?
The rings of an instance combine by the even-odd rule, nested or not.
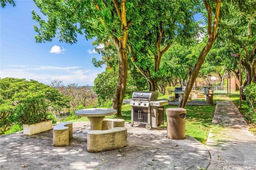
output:
[[[220,41],[226,42],[231,53],[242,54],[242,65],[246,70],[246,79],[242,87],[256,83],[256,2],[244,2],[248,7],[228,6],[230,14],[226,15],[221,26]],[[234,70],[236,73],[236,71]]]

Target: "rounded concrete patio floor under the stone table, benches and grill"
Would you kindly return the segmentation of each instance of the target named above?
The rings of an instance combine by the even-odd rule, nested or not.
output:
[[[166,128],[147,130],[126,122],[128,146],[121,150],[87,152],[90,122],[73,123],[66,147],[52,146],[52,130],[0,136],[0,170],[198,170],[210,163],[210,153],[196,139],[168,139]]]

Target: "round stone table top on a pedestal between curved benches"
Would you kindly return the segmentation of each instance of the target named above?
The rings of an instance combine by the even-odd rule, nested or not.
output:
[[[116,114],[116,109],[108,108],[91,108],[91,109],[80,109],[76,110],[75,114],[78,116],[87,116],[87,117],[100,117]]]

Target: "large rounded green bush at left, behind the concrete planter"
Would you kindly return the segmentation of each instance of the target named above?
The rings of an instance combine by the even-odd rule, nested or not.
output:
[[[0,79],[1,133],[12,123],[32,124],[53,118],[52,111],[68,107],[69,98],[35,80]]]

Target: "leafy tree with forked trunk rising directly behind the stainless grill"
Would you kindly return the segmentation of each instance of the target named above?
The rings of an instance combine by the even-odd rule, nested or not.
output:
[[[199,34],[194,15],[201,10],[200,1],[147,1],[141,7],[143,20],[132,25],[128,49],[136,68],[148,81],[149,91],[155,91],[162,55],[174,42],[189,43]]]

